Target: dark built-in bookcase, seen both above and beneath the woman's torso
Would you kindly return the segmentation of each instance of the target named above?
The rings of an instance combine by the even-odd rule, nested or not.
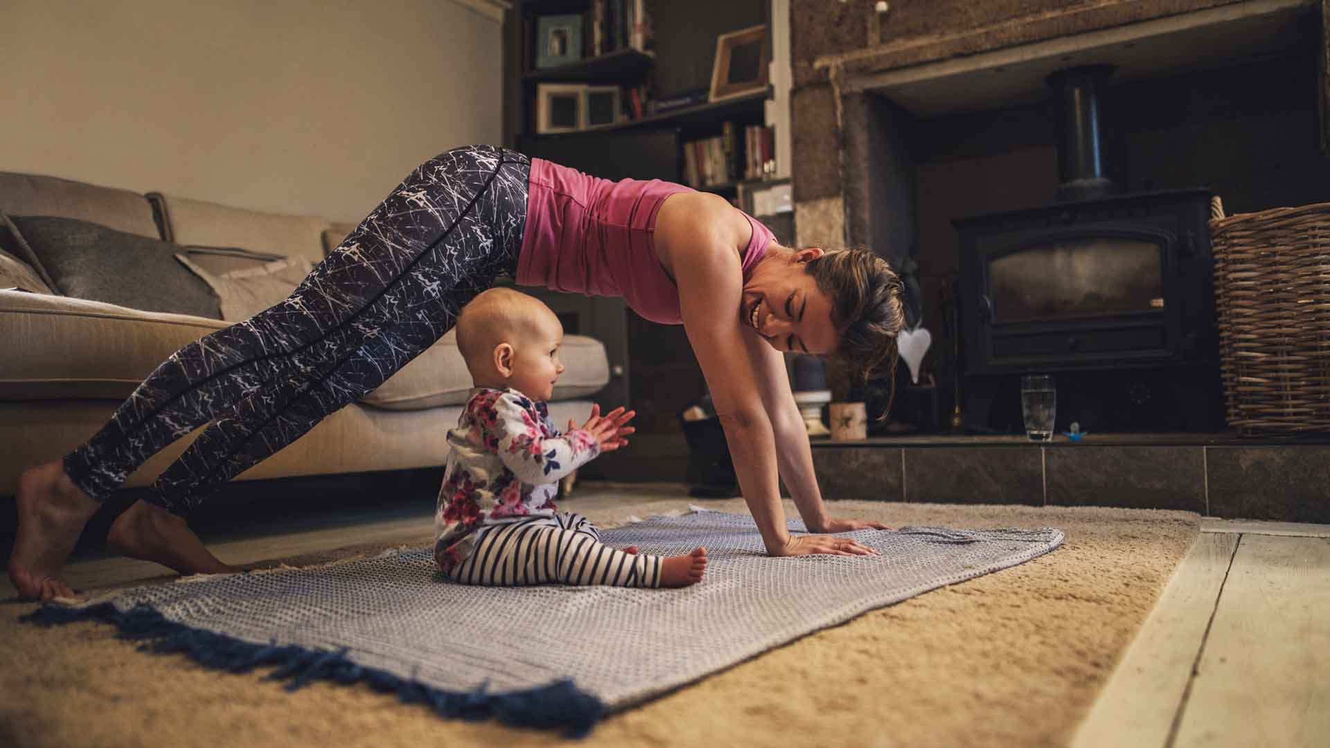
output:
[[[504,52],[508,69],[504,76],[507,144],[598,177],[688,184],[685,144],[722,136],[726,124],[730,124],[734,133],[732,141],[737,140],[742,148],[747,142],[746,128],[767,125],[767,101],[774,94],[771,87],[716,101],[700,92],[710,91],[720,35],[766,25],[770,49],[770,0],[644,0],[653,31],[644,48],[628,45],[592,55],[593,49],[587,44],[592,32],[584,25],[580,60],[537,68],[537,20],[548,15],[591,13],[593,4],[595,0],[524,0],[515,3],[509,11]],[[610,124],[581,126],[576,132],[541,133],[537,128],[537,89],[543,84],[614,85],[624,92],[636,88],[646,96],[640,114],[629,105],[618,121]],[[656,112],[649,104],[652,101],[676,106]],[[746,190],[771,184],[765,178],[745,178],[747,161],[737,161],[737,173],[721,178],[718,184],[694,185],[696,189],[721,194],[738,205]],[[680,461],[666,465],[668,461],[657,458],[664,453],[676,457],[688,454],[678,413],[706,391],[688,337],[682,326],[648,322],[626,310],[618,299],[597,302],[602,307],[592,314],[598,325],[595,334],[606,343],[612,367],[618,365],[621,355],[626,357],[626,366],[612,382],[612,387],[617,389],[601,393],[596,399],[609,407],[628,405],[636,409],[640,439],[636,450],[596,461],[592,472],[608,471],[605,476],[630,480],[684,480],[685,475],[677,474]],[[620,303],[617,323],[621,333],[612,331],[612,325],[600,323],[602,317],[613,315],[604,307],[612,302]]]

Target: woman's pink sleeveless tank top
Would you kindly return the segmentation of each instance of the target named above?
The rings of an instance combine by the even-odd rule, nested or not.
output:
[[[678,287],[665,274],[654,245],[656,213],[676,192],[693,190],[661,180],[601,180],[532,158],[517,283],[618,295],[646,319],[682,323]],[[775,237],[743,216],[753,226],[743,250],[746,280]]]

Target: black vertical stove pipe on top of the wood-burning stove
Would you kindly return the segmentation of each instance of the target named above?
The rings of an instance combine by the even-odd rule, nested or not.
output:
[[[1083,65],[1048,76],[1057,91],[1061,140],[1057,148],[1060,202],[1096,200],[1117,192],[1104,176],[1104,141],[1099,124],[1099,92],[1113,65]]]

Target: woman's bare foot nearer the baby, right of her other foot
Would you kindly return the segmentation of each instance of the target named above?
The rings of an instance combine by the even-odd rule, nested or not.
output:
[[[117,554],[156,562],[181,574],[237,571],[203,547],[184,516],[142,500],[134,502],[110,523],[106,546]]]

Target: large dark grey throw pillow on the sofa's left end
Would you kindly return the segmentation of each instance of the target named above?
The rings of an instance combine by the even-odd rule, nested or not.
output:
[[[180,246],[49,216],[7,216],[19,250],[53,290],[144,311],[221,319],[213,289],[176,261]]]

